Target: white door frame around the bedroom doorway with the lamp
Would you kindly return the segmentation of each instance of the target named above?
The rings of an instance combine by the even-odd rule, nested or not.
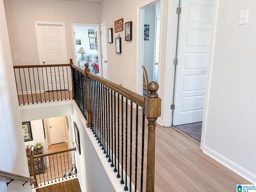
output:
[[[100,31],[100,25],[99,24],[90,24],[90,23],[71,23],[71,30],[72,30],[72,46],[73,46],[73,53],[74,53],[74,58],[73,59],[73,64],[76,65],[77,59],[76,59],[76,47],[75,47],[75,34],[74,34],[74,26],[95,26],[97,27],[97,31],[99,33]],[[101,37],[98,34],[98,55],[101,55]],[[99,63],[102,63],[102,58],[98,57]],[[102,66],[99,65],[100,68],[100,76],[102,76]]]

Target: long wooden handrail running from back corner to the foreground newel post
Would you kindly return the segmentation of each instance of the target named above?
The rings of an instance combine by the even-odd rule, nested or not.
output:
[[[86,63],[88,64],[88,63]],[[80,72],[84,72],[84,70],[82,68],[79,68],[78,66],[75,66],[74,64],[71,64],[72,68],[75,68],[76,70],[79,70]],[[89,64],[88,64],[89,66]],[[87,66],[87,67],[88,67]],[[98,82],[100,82],[101,84],[107,86],[108,88],[112,89],[113,91],[115,91],[116,93],[119,93],[123,96],[125,96],[128,100],[138,104],[139,106],[141,106],[142,108],[144,108],[144,97],[132,92],[131,90],[128,90],[124,87],[121,87],[118,84],[115,84],[107,79],[104,79],[100,76],[97,76],[91,72],[86,71],[86,74],[90,77],[93,78],[94,80],[97,80]]]

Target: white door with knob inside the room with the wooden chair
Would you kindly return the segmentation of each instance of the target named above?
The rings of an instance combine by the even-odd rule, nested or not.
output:
[[[160,41],[160,16],[156,15],[156,36],[155,36],[155,56],[154,56],[154,81],[158,82],[158,60]]]

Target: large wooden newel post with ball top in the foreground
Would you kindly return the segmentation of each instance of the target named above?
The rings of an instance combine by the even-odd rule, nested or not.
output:
[[[161,116],[161,98],[156,91],[159,85],[156,82],[148,83],[148,91],[144,98],[144,114],[148,119],[148,156],[147,156],[147,176],[146,192],[154,192],[155,182],[155,129],[156,120]]]

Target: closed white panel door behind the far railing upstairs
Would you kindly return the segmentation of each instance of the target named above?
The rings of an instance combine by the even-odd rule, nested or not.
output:
[[[65,64],[68,63],[66,34],[64,23],[36,22],[36,37],[40,64]],[[66,69],[66,68],[65,68]],[[43,70],[44,90],[65,90],[67,82],[66,70],[62,67],[48,67]]]

